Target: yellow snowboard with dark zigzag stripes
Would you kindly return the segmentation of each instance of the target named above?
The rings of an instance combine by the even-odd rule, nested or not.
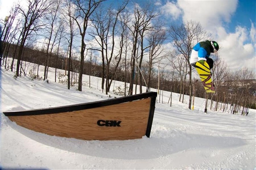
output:
[[[199,77],[203,83],[205,91],[207,93],[215,93],[215,89],[212,82],[212,75],[210,72],[210,67],[208,63],[205,61],[204,64],[200,64],[198,61],[195,63],[195,68]]]

